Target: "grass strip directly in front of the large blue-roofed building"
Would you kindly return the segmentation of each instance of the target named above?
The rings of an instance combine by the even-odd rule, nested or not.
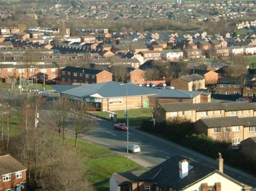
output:
[[[129,112],[129,125],[141,125],[143,120],[150,120],[151,117],[149,115],[149,109],[130,109]],[[124,110],[119,111],[113,111],[117,113],[118,122],[125,122],[126,123],[126,117],[124,116]],[[108,112],[94,112],[96,116],[100,116],[103,118],[109,119],[109,113]]]

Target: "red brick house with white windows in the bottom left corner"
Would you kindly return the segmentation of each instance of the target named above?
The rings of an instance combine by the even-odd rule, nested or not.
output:
[[[27,168],[10,155],[0,156],[0,190],[26,191]]]

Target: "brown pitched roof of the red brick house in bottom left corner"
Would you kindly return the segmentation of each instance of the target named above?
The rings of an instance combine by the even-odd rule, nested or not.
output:
[[[0,156],[0,175],[27,170],[27,168],[10,155]]]

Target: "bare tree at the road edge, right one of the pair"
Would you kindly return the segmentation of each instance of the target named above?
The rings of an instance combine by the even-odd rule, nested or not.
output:
[[[74,123],[75,134],[75,146],[77,144],[77,138],[80,134],[84,134],[97,125],[95,120],[92,120],[86,115],[88,104],[83,101],[74,101],[71,105],[73,113],[71,119]]]

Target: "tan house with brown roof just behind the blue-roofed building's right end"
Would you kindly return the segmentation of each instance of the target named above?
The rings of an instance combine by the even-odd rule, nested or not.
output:
[[[180,90],[202,90],[205,88],[205,78],[199,74],[182,75],[182,77],[171,80],[171,86]]]

